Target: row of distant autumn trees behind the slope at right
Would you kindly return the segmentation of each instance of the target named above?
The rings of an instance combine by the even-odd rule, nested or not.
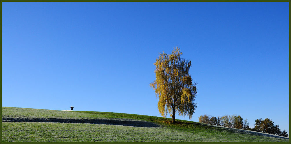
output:
[[[249,128],[249,122],[247,119],[243,119],[240,115],[224,115],[223,117],[214,117],[211,115],[201,115],[199,117],[200,123],[207,123],[210,125],[224,126],[228,128],[237,128],[244,130],[252,130],[256,132],[265,132],[268,134],[276,134],[280,136],[288,137],[286,130],[281,132],[279,125],[274,125],[271,119],[265,118],[264,120],[256,119],[255,127]]]

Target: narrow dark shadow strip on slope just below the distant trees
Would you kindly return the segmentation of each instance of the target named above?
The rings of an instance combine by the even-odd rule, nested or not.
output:
[[[181,122],[181,123],[183,123],[183,122]],[[202,123],[188,123],[188,124],[201,125],[204,127],[211,127],[211,129],[215,129],[215,130],[218,130],[220,132],[231,132],[231,133],[237,133],[237,134],[250,134],[250,135],[257,135],[257,136],[268,136],[268,137],[289,139],[288,137],[284,137],[284,136],[278,136],[278,135],[274,135],[274,134],[267,134],[267,133],[256,132],[256,131],[251,131],[251,130],[227,128],[227,127],[223,127],[223,126],[209,125],[209,124],[202,124]]]

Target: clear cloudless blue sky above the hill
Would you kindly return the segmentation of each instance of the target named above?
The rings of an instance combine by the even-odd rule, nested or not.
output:
[[[1,3],[2,106],[161,116],[153,63],[178,46],[198,84],[191,121],[289,133],[289,2]]]

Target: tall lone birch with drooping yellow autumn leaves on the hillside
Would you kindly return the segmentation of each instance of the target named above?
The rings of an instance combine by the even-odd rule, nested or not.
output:
[[[156,66],[156,80],[150,83],[159,97],[158,109],[163,117],[172,113],[172,122],[176,123],[175,114],[192,118],[197,103],[193,103],[196,96],[196,83],[192,83],[189,68],[191,61],[180,58],[182,52],[178,47],[174,48],[172,54],[159,53],[154,65]]]

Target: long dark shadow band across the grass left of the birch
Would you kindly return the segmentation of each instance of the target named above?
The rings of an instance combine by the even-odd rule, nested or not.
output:
[[[58,119],[58,118],[5,118],[2,122],[52,122],[52,123],[93,123],[107,125],[124,125],[133,127],[157,128],[155,123],[134,119]]]

